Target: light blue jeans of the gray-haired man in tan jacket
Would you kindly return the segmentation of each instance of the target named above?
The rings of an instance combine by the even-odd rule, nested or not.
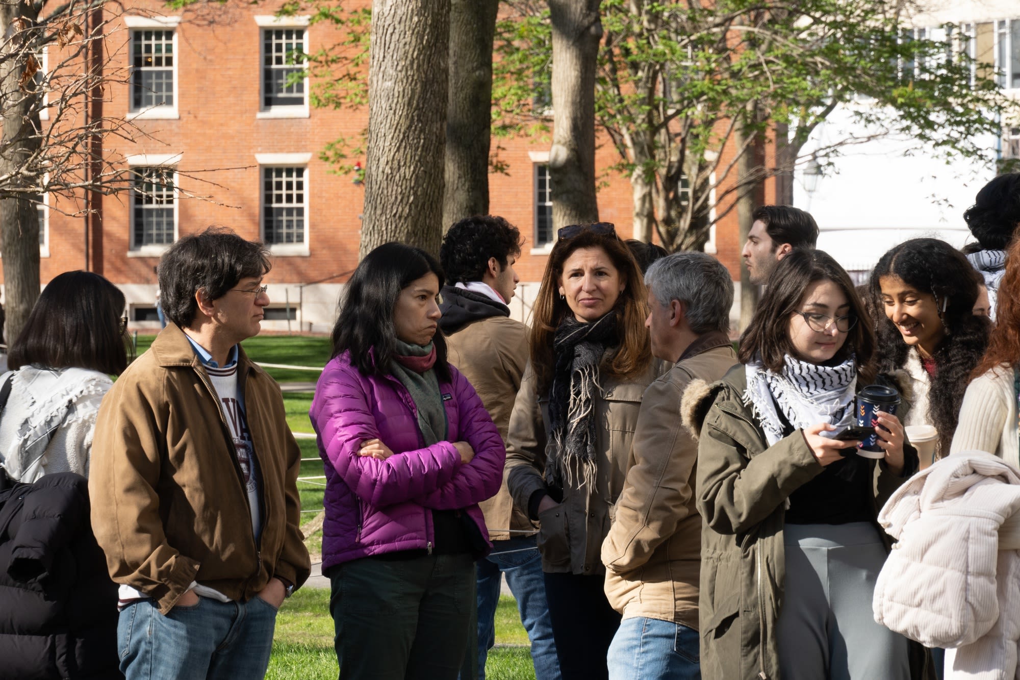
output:
[[[701,680],[698,631],[671,621],[624,619],[607,661],[610,680]]]

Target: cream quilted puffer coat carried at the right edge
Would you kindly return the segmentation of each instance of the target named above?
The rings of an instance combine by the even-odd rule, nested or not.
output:
[[[965,451],[915,475],[878,516],[900,542],[875,585],[875,621],[950,648],[946,680],[1020,678],[1020,546],[1000,540],[1018,509],[1020,472]]]

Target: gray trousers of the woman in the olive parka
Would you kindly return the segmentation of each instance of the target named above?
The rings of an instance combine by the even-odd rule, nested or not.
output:
[[[787,524],[785,593],[776,630],[783,680],[909,680],[907,639],[875,623],[885,562],[867,522]]]

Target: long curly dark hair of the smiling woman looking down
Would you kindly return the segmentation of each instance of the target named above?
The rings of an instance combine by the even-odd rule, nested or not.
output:
[[[918,292],[935,298],[946,337],[932,354],[937,371],[928,387],[928,420],[938,430],[939,448],[950,450],[963,404],[963,394],[974,367],[988,346],[990,324],[975,317],[977,279],[964,255],[938,239],[911,239],[895,246],[878,260],[869,283],[875,318],[880,374],[902,369],[910,354],[896,325],[881,313],[881,279],[899,277]]]

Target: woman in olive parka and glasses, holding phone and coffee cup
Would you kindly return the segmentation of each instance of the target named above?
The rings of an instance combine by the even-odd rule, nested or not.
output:
[[[702,675],[906,680],[907,640],[874,622],[871,596],[888,548],[875,518],[916,453],[888,414],[880,459],[837,437],[874,352],[843,268],[795,250],[769,281],[742,365],[683,399],[700,437]]]

